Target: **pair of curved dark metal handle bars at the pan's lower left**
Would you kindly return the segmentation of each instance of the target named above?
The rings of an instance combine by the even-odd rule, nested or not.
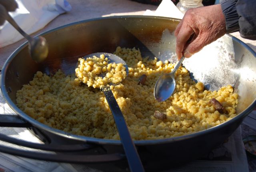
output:
[[[5,145],[0,145],[0,152],[7,154],[12,154],[16,156],[22,156],[26,158],[32,158],[37,160],[47,160],[54,162],[69,162],[69,163],[95,163],[95,162],[111,162],[116,160],[122,160],[125,158],[124,154],[114,153],[114,154],[97,154],[88,155],[80,154],[82,151],[90,150],[96,148],[94,144],[38,144],[27,142],[24,140],[12,138],[6,136],[5,134],[0,134],[0,140],[19,146],[24,146],[26,148],[34,148],[39,151],[22,149],[18,147],[10,147]],[[42,150],[47,150],[51,152],[42,152]],[[85,152],[86,153],[86,152]]]

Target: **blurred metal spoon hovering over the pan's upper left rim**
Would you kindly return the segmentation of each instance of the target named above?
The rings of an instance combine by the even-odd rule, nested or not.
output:
[[[6,17],[6,20],[28,40],[28,48],[31,58],[38,63],[44,61],[48,56],[48,44],[46,39],[42,36],[32,38],[18,26],[6,10],[5,12],[6,15],[4,16]]]

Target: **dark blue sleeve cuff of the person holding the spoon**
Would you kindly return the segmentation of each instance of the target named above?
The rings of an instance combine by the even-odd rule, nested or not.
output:
[[[255,0],[221,0],[226,33],[239,31],[242,38],[256,40]]]

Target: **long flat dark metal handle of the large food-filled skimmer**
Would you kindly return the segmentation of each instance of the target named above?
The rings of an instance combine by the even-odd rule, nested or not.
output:
[[[131,172],[144,172],[144,168],[142,162],[140,160],[140,156],[138,155],[137,149],[132,141],[131,135],[129,133],[128,127],[124,120],[124,116],[116,102],[114,94],[109,87],[102,88],[106,100],[108,102],[108,106],[112,112],[114,117],[116,127],[124,147],[124,152],[126,154],[126,158],[128,160],[128,164]]]

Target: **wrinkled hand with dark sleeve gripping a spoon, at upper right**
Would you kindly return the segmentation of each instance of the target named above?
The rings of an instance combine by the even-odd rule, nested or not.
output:
[[[189,9],[175,30],[176,54],[186,58],[200,51],[226,33],[226,23],[220,4]],[[192,34],[196,38],[188,43]]]

